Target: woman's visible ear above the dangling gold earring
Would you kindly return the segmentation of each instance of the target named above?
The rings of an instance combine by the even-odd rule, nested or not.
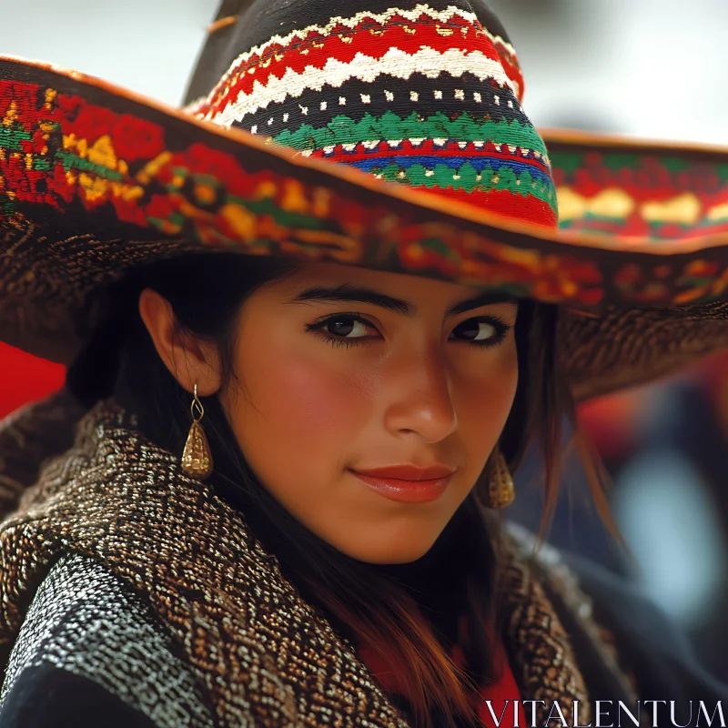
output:
[[[221,386],[217,346],[180,331],[172,305],[156,290],[145,288],[139,296],[139,315],[154,342],[159,358],[190,394],[215,394]]]

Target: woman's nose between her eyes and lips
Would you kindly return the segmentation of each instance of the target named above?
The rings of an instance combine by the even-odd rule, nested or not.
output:
[[[458,426],[450,393],[450,375],[440,349],[419,347],[389,361],[387,429],[396,436],[416,433],[439,442]]]

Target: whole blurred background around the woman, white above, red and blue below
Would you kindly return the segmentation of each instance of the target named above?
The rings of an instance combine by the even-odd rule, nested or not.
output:
[[[2,0],[0,53],[51,61],[177,106],[217,0]],[[490,0],[508,28],[537,126],[728,145],[725,0]],[[22,30],[22,32],[21,32]],[[0,344],[0,418],[64,369]],[[592,401],[581,426],[612,476],[633,560],[604,531],[571,465],[550,540],[640,581],[728,682],[728,353]],[[534,530],[538,461],[509,516]]]

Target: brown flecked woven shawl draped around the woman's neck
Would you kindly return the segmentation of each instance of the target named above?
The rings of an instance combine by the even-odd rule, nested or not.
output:
[[[61,404],[51,398],[35,408],[38,431],[57,425],[52,411]],[[0,428],[0,482],[12,480],[7,470],[17,464],[2,460],[3,444],[27,440],[37,456],[34,433],[23,417]],[[76,551],[148,598],[218,725],[408,726],[353,645],[284,578],[243,514],[187,478],[177,456],[136,430],[133,415],[113,399],[99,402],[75,433],[73,446],[45,462],[17,510],[0,522],[4,668],[37,586],[62,554]],[[57,438],[54,445],[61,447]],[[500,588],[507,602],[503,637],[521,698],[559,701],[570,722],[566,707],[579,700],[580,721],[588,723],[589,696],[543,581],[582,621],[589,621],[591,603],[552,555],[551,565],[531,559],[532,541],[519,534],[501,537]],[[596,631],[594,642],[608,652]],[[548,713],[541,704],[536,714],[543,724]]]

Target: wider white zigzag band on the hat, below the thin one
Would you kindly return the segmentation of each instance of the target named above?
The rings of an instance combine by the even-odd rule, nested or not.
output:
[[[307,90],[320,91],[325,84],[340,87],[350,78],[372,83],[382,74],[407,79],[414,73],[420,73],[428,78],[437,78],[443,71],[451,76],[462,76],[467,71],[478,76],[481,81],[492,78],[501,86],[511,88],[518,96],[517,85],[506,75],[499,61],[480,51],[469,53],[459,48],[450,48],[445,53],[440,53],[425,45],[415,54],[405,53],[399,48],[389,48],[381,58],[358,53],[351,63],[329,58],[323,68],[307,66],[302,74],[288,68],[281,78],[270,76],[266,86],[255,81],[251,93],[240,93],[219,114],[207,114],[204,118],[220,126],[231,126],[259,108],[280,103],[288,96],[301,96]]]

